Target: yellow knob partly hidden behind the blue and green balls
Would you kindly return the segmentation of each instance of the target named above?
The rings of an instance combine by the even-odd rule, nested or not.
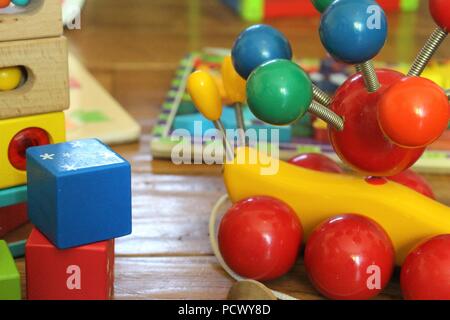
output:
[[[236,72],[231,56],[226,56],[222,62],[222,79],[228,98],[236,103],[247,100],[246,81]]]

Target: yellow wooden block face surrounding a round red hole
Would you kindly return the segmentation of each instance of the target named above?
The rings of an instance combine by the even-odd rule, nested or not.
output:
[[[26,183],[25,170],[18,170],[11,164],[8,150],[13,138],[27,128],[44,130],[50,143],[66,139],[63,112],[0,120],[0,190]]]

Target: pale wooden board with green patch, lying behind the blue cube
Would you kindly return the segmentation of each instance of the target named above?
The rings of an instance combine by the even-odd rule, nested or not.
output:
[[[98,138],[106,144],[138,139],[139,124],[69,54],[70,108],[65,111],[67,140]]]

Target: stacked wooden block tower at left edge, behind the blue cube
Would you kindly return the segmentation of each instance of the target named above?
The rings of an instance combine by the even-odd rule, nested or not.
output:
[[[69,89],[62,32],[60,0],[0,2],[0,236],[27,221],[26,149],[65,141]],[[0,288],[3,280],[0,274]]]

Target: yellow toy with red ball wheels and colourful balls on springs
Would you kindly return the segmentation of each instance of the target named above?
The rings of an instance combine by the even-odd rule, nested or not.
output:
[[[321,170],[320,166],[311,169],[312,166],[301,164],[300,158],[287,163],[255,148],[235,148],[233,160],[229,157],[223,168],[223,178],[233,207],[226,213],[219,228],[219,245],[214,236],[214,220],[226,198],[219,200],[214,207],[210,223],[211,243],[219,262],[236,280],[244,280],[245,274],[254,274],[250,277],[255,280],[269,280],[273,277],[268,275],[280,271],[276,264],[281,259],[278,256],[274,258],[276,261],[273,261],[271,269],[261,270],[261,263],[266,262],[264,259],[274,256],[275,251],[280,249],[280,242],[273,240],[278,238],[271,238],[269,230],[275,232],[280,228],[273,225],[271,229],[267,225],[265,231],[258,231],[261,225],[255,222],[259,219],[258,215],[253,215],[252,220],[248,208],[243,205],[260,201],[261,197],[270,197],[280,201],[280,205],[266,217],[277,211],[281,214],[280,208],[284,205],[290,206],[298,216],[307,244],[305,264],[308,275],[325,296],[332,299],[374,297],[389,281],[394,260],[396,265],[402,266],[408,257],[407,269],[402,271],[408,275],[402,275],[402,278],[412,279],[410,281],[415,281],[415,278],[431,280],[418,280],[422,282],[411,286],[402,282],[406,290],[405,298],[450,298],[450,209],[434,200],[432,192],[431,195],[429,192],[418,192],[420,188],[414,183],[395,182],[402,181],[400,176],[448,126],[448,93],[419,75],[447,35],[449,2],[429,1],[439,28],[407,75],[375,69],[371,63],[387,36],[387,19],[376,1],[315,0],[313,3],[322,11],[319,34],[325,48],[335,59],[355,65],[357,70],[338,88],[334,97],[314,94],[307,75],[291,61],[288,41],[272,27],[256,25],[244,30],[233,46],[232,62],[238,74],[247,81],[247,103],[257,118],[285,125],[306,111],[313,112],[329,124],[331,143],[338,156],[360,176]],[[198,80],[193,75],[190,81],[190,87],[194,90],[189,93],[199,111],[208,119],[212,119],[210,114],[218,118],[221,106],[217,102],[217,93],[196,86]],[[196,96],[215,103],[199,101]],[[314,100],[313,103],[324,112],[312,110],[310,104]],[[270,166],[276,170],[268,173],[266,169]],[[423,184],[423,180],[417,183]],[[239,228],[234,238],[227,238],[227,250],[221,253],[221,241],[227,237],[227,234],[221,233],[226,232],[226,228],[222,230],[222,227],[231,224],[231,215],[238,217],[236,221],[245,221],[246,227]],[[270,224],[269,220],[266,223]],[[240,225],[235,222],[234,226],[237,228]],[[362,232],[363,229],[367,232]],[[411,253],[412,257],[409,255],[418,244],[432,237],[437,237],[437,240],[430,240],[429,245],[422,245]],[[267,240],[269,238],[273,244],[267,248],[270,254],[264,255],[261,250],[271,245]],[[347,247],[344,250],[340,245]],[[359,253],[355,251],[364,246],[370,249]],[[235,252],[230,247],[234,247]],[[249,248],[254,248],[252,256],[248,256]],[[422,252],[421,248],[427,248],[428,253]],[[361,272],[366,270],[358,269],[364,262],[362,255],[369,254],[369,251],[383,252],[383,258],[379,260],[385,273],[382,286],[374,291],[368,290],[365,278],[361,281]],[[348,256],[340,256],[344,253]],[[327,271],[327,263],[320,254],[332,259],[329,267],[341,273],[325,274],[331,271]],[[433,262],[432,257],[437,254],[442,256],[442,259],[437,259],[439,263],[434,264],[437,269],[422,270],[423,275],[418,277],[420,265],[427,264],[432,268],[433,263],[437,262]],[[287,259],[285,256],[283,258]],[[238,270],[245,272],[239,273]],[[339,284],[333,279],[348,281],[344,283],[342,280]],[[352,285],[363,288],[350,294],[356,288]],[[344,292],[344,289],[349,291]],[[420,290],[425,290],[426,294],[421,295],[418,293]]]

